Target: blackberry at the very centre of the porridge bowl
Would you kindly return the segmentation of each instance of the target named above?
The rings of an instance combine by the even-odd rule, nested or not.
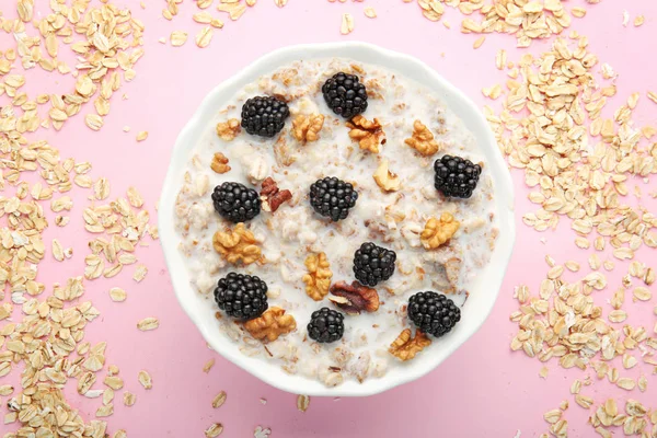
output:
[[[310,205],[334,222],[349,215],[349,208],[356,205],[356,199],[358,193],[354,186],[335,176],[318,180],[310,186]]]

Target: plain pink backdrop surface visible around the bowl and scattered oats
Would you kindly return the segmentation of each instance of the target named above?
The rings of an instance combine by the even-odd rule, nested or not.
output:
[[[5,0],[7,1],[7,0]],[[37,0],[37,11],[47,12],[45,0]],[[181,128],[196,111],[201,99],[219,82],[237,73],[249,62],[275,48],[298,44],[344,39],[359,39],[382,47],[404,51],[424,60],[445,78],[454,83],[477,104],[486,100],[481,94],[483,87],[503,83],[505,76],[495,69],[495,54],[499,48],[509,51],[509,60],[517,60],[526,50],[515,49],[515,37],[488,35],[480,49],[473,49],[476,35],[463,35],[459,31],[462,15],[447,8],[445,19],[452,24],[447,30],[440,23],[424,19],[417,4],[405,4],[401,0],[366,0],[362,3],[328,3],[326,0],[289,0],[278,9],[272,0],[260,0],[238,22],[226,19],[226,27],[215,31],[209,47],[199,49],[194,35],[201,25],[192,21],[198,12],[193,2],[181,5],[181,13],[173,22],[161,15],[163,1],[147,1],[146,10],[139,1],[119,1],[128,4],[136,16],[146,23],[146,56],[137,64],[137,78],[126,84],[122,92],[127,100],[115,96],[112,112],[105,117],[105,126],[93,132],[84,126],[83,117],[68,122],[62,131],[47,132],[47,139],[60,148],[62,155],[77,160],[89,160],[94,165],[93,175],[106,176],[112,193],[119,196],[130,186],[137,186],[153,207],[158,200],[170,151]],[[216,1],[217,3],[217,1]],[[634,91],[642,93],[635,112],[635,120],[655,124],[657,106],[645,99],[647,90],[657,91],[654,47],[657,37],[655,19],[657,2],[653,0],[612,1],[588,5],[584,0],[568,1],[570,5],[586,5],[584,20],[574,19],[573,30],[588,35],[590,48],[601,61],[609,62],[620,73],[618,91],[620,99],[611,107]],[[374,7],[378,18],[367,19],[362,9]],[[646,23],[641,28],[630,24],[622,26],[622,11],[627,9],[631,18],[645,14]],[[215,8],[209,9],[219,15]],[[5,11],[13,13],[13,11]],[[348,36],[339,34],[341,16],[350,12],[355,16],[355,31]],[[189,41],[180,48],[158,43],[175,30],[189,33]],[[529,49],[537,54],[549,43],[534,43]],[[32,79],[34,78],[34,79]],[[36,80],[42,83],[36,85]],[[70,77],[28,72],[28,92],[37,93],[53,88],[67,90]],[[93,111],[91,107],[83,113]],[[131,131],[125,134],[124,126]],[[148,130],[145,142],[136,142],[135,136]],[[521,430],[522,437],[534,437],[548,430],[542,414],[557,407],[562,400],[570,401],[565,417],[569,423],[569,436],[593,436],[586,425],[588,412],[572,400],[568,388],[574,379],[583,379],[590,371],[577,369],[564,371],[556,364],[549,364],[550,376],[539,378],[543,364],[511,353],[509,342],[517,331],[508,321],[517,309],[512,298],[514,287],[527,284],[538,291],[539,284],[548,270],[543,257],[551,254],[557,263],[575,260],[586,266],[589,252],[577,250],[574,233],[562,223],[557,232],[537,233],[520,220],[532,207],[526,200],[528,191],[519,172],[514,174],[517,189],[518,245],[508,269],[506,281],[495,310],[482,330],[439,369],[419,381],[368,399],[313,399],[310,408],[301,413],[296,406],[296,396],[273,389],[206,347],[200,334],[183,313],[173,295],[162,252],[158,244],[140,249],[139,256],[149,267],[149,275],[139,285],[129,275],[120,280],[101,279],[88,284],[87,299],[101,310],[101,318],[89,325],[87,341],[107,342],[107,364],[120,368],[126,389],[137,394],[137,403],[125,407],[117,393],[115,414],[108,418],[110,433],[119,428],[129,437],[203,437],[203,430],[214,422],[224,426],[222,437],[250,437],[257,425],[270,427],[273,437],[508,437]],[[644,187],[647,194],[648,187]],[[653,189],[657,186],[653,185]],[[655,207],[644,195],[642,204]],[[77,199],[84,203],[83,198]],[[654,209],[654,208],[653,208]],[[42,280],[47,285],[64,281],[70,275],[79,275],[87,254],[88,237],[76,235],[82,228],[81,208],[76,208],[72,223],[64,229],[50,228],[47,241],[57,237],[65,246],[73,245],[72,260],[59,264],[47,262],[42,270]],[[541,238],[546,243],[540,242]],[[647,262],[654,254],[644,251],[641,260]],[[602,260],[606,260],[606,254]],[[42,265],[43,266],[43,265]],[[588,272],[584,268],[578,275]],[[596,299],[604,304],[606,297],[619,286],[626,265],[616,263],[609,275],[610,290],[598,292]],[[577,278],[566,274],[567,278]],[[112,302],[107,290],[122,286],[128,292],[123,303]],[[627,301],[631,301],[630,297]],[[652,307],[632,302],[625,306],[630,322],[643,322],[652,330],[655,316]],[[158,330],[140,333],[136,322],[145,316],[158,316]],[[216,366],[206,374],[201,368],[210,358]],[[619,365],[620,367],[620,365]],[[137,382],[140,369],[153,377],[153,389],[145,391]],[[618,390],[606,381],[583,390],[597,402],[618,395],[643,401],[647,405],[657,400],[657,379],[652,369],[636,367],[622,376],[638,377],[639,369],[648,376],[648,392],[632,393]],[[12,373],[10,380],[15,379]],[[3,384],[0,379],[0,384]],[[593,379],[596,380],[596,379]],[[228,393],[226,404],[214,410],[212,397],[221,390]],[[69,384],[68,394],[85,418],[92,418],[100,400],[89,401],[79,396],[74,384]],[[261,402],[266,400],[266,404]],[[4,404],[4,403],[3,403]],[[657,407],[654,403],[653,407]],[[5,407],[1,407],[4,413]],[[0,429],[5,426],[0,425]],[[621,430],[618,431],[622,434]]]

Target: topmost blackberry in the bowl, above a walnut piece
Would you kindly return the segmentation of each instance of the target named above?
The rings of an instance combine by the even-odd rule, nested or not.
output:
[[[351,118],[367,110],[367,90],[355,74],[339,72],[324,82],[322,94],[335,114]]]

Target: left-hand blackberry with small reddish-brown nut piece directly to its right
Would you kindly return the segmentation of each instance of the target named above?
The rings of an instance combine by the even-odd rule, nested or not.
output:
[[[253,188],[244,184],[226,182],[215,187],[215,210],[231,222],[244,222],[260,214],[261,198]]]

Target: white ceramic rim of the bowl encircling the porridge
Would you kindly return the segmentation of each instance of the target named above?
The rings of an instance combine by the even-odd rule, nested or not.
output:
[[[479,147],[486,157],[486,172],[493,176],[495,183],[495,204],[499,227],[499,237],[491,263],[477,276],[476,284],[470,287],[470,297],[462,309],[461,322],[448,336],[441,338],[439,343],[434,343],[430,350],[418,355],[414,360],[399,367],[391,367],[383,378],[370,378],[364,383],[347,380],[336,388],[326,388],[320,381],[306,377],[290,376],[284,372],[278,365],[269,365],[262,359],[250,358],[239,351],[239,345],[219,331],[215,319],[217,309],[208,306],[211,301],[192,288],[185,262],[177,250],[180,235],[176,233],[173,222],[175,198],[191,150],[198,142],[217,112],[233,97],[234,90],[240,90],[262,74],[272,72],[286,64],[299,59],[330,57],[353,58],[362,62],[380,65],[435,90],[450,110],[465,123],[468,129],[474,134]],[[237,76],[219,84],[203,101],[175,142],[160,199],[159,229],[173,288],[181,306],[215,350],[258,379],[284,391],[308,395],[362,396],[376,394],[423,377],[454,353],[481,327],[495,304],[511,256],[516,237],[512,206],[511,178],[497,149],[493,132],[482,113],[463,93],[427,65],[407,55],[365,43],[313,44],[286,47],[258,59]]]

